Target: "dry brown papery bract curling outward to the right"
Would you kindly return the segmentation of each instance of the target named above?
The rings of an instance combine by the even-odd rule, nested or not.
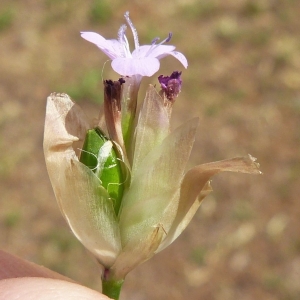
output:
[[[223,171],[261,174],[251,155],[207,163],[189,170],[182,181],[176,218],[159,251],[170,245],[191,221],[202,199],[211,191],[210,178]]]

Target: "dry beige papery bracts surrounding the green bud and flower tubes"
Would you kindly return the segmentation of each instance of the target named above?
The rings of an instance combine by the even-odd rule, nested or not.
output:
[[[48,98],[44,151],[59,206],[77,238],[123,279],[135,266],[172,243],[190,222],[209,180],[221,171],[258,174],[251,156],[194,167],[185,173],[197,119],[170,132],[168,101],[149,86],[140,110],[132,157],[118,215],[99,178],[78,161],[75,142],[89,128],[80,108],[65,94]],[[123,158],[124,161],[126,158]]]

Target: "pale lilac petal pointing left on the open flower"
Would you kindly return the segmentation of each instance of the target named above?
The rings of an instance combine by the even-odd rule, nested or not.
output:
[[[81,32],[81,37],[95,44],[111,59],[125,55],[124,47],[118,40],[107,40],[95,32]]]

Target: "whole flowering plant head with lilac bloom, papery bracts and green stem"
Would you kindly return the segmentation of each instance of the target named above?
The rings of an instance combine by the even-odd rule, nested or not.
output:
[[[159,76],[160,91],[150,85],[137,113],[141,76],[151,76],[159,59],[174,46],[138,46],[130,54],[125,26],[118,40],[95,33],[82,37],[112,59],[122,77],[104,81],[104,107],[94,125],[66,94],[48,97],[44,152],[62,214],[75,236],[104,267],[103,293],[118,299],[125,276],[170,245],[211,192],[210,178],[221,171],[258,174],[250,155],[196,166],[185,171],[198,119],[170,131],[172,106],[181,72]],[[169,37],[163,42],[170,40]],[[80,149],[78,153],[77,149]]]

